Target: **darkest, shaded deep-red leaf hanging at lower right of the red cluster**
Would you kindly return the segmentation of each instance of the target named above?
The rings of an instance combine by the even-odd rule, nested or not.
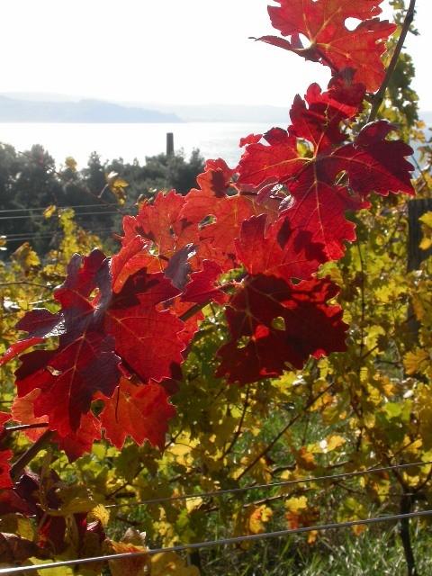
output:
[[[327,302],[336,284],[313,279],[291,284],[257,275],[230,300],[226,311],[231,341],[218,352],[217,374],[230,383],[252,383],[302,368],[310,356],[346,350],[347,325],[339,306]]]

